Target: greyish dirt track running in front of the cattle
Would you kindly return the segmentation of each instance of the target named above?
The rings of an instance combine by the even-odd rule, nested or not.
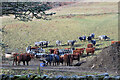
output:
[[[6,61],[2,64],[2,69],[13,69],[13,70],[28,70],[28,69],[31,69],[31,70],[37,70],[38,67],[39,67],[39,64],[40,64],[40,61],[39,59],[35,59],[35,60],[32,60],[29,64],[29,66],[24,66],[21,65],[20,66],[16,66],[16,65],[12,65],[12,61],[9,61],[9,63]],[[89,73],[109,73],[109,74],[113,74],[113,75],[116,75],[115,72],[110,72],[110,71],[107,71],[105,69],[90,69],[90,68],[87,68],[87,67],[80,67],[80,66],[62,66],[62,65],[59,65],[59,66],[46,66],[46,67],[41,67],[42,70],[50,70],[50,71],[66,71],[66,72],[89,72]]]

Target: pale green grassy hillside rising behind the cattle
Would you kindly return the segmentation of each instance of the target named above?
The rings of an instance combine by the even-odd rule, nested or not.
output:
[[[56,15],[52,16],[52,20],[48,21],[34,19],[30,22],[22,22],[15,20],[13,16],[3,16],[2,26],[5,26],[6,32],[3,36],[4,43],[8,44],[9,51],[18,49],[18,52],[25,52],[25,48],[28,45],[34,46],[36,41],[50,41],[51,46],[47,48],[49,49],[55,48],[56,40],[62,40],[63,44],[66,44],[67,40],[78,40],[79,36],[88,36],[90,33],[95,33],[96,37],[108,35],[111,39],[117,40],[118,14],[81,15],[81,13],[97,14],[104,13],[104,11],[105,13],[117,12],[117,4],[115,4],[75,3],[55,8],[51,12],[56,12]],[[103,10],[103,7],[106,10]],[[75,45],[76,47],[86,47],[87,44],[88,42],[80,42],[78,40]],[[97,41],[97,44],[102,44],[96,46],[97,48],[102,48],[110,45],[110,41]],[[59,48],[65,47],[70,46],[60,46]]]

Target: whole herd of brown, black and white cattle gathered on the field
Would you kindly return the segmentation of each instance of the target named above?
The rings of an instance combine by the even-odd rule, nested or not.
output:
[[[89,55],[91,53],[92,55],[95,52],[95,45],[96,45],[96,40],[95,40],[95,34],[92,33],[90,36],[81,36],[78,37],[80,41],[86,41],[88,40],[89,44],[87,44],[87,48],[65,48],[65,49],[49,49],[50,53],[49,54],[43,54],[41,61],[45,63],[46,65],[59,65],[63,63],[67,66],[72,65],[73,60],[80,61],[80,57],[83,56],[84,51],[86,51],[86,55]],[[106,35],[98,36],[99,40],[106,40],[110,39]],[[74,43],[77,42],[77,40],[68,40],[67,44],[74,46]],[[35,53],[45,53],[45,50],[42,49],[42,47],[45,45],[48,47],[49,41],[40,41],[40,42],[35,42],[35,47],[27,47],[26,51],[27,53],[13,53],[11,54],[13,57],[13,65],[16,63],[16,65],[20,65],[20,62],[23,62],[25,65],[25,62],[27,65],[29,65],[29,61],[34,58],[36,55]],[[113,43],[113,42],[112,42]],[[56,41],[56,46],[60,46],[62,44],[62,41],[57,40]],[[39,47],[40,46],[40,47]],[[34,50],[34,51],[32,51]]]

